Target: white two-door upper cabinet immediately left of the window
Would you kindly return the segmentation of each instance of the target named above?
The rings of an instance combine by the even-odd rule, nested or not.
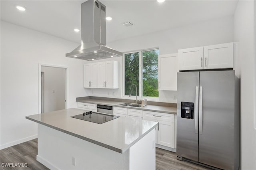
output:
[[[98,63],[98,88],[118,89],[118,61]]]

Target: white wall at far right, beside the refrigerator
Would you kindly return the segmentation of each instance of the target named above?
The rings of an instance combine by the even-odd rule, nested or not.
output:
[[[234,41],[238,45],[238,62],[240,72],[240,120],[241,120],[241,169],[256,169],[256,131],[254,129],[254,3],[255,1],[238,1],[234,14]]]

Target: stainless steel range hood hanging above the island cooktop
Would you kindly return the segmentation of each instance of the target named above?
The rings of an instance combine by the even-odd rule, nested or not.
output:
[[[98,0],[88,0],[82,3],[81,13],[81,45],[66,53],[66,57],[92,61],[122,56],[106,47],[106,6]]]

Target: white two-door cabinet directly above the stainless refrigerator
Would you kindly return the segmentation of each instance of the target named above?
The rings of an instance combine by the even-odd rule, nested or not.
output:
[[[233,43],[179,49],[179,70],[233,68]]]

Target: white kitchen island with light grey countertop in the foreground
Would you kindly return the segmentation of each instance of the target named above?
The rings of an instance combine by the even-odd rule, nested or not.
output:
[[[38,123],[39,162],[52,170],[155,169],[157,122],[119,117],[97,124],[71,117],[84,112],[72,108],[26,117]]]

